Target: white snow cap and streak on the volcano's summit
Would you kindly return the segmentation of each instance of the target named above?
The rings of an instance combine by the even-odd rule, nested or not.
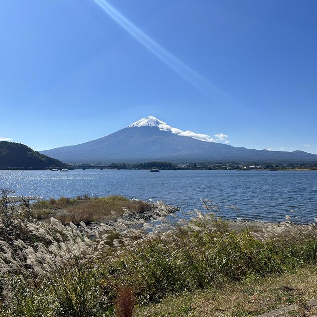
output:
[[[184,137],[191,137],[200,141],[216,142],[215,139],[211,138],[211,136],[207,134],[195,133],[192,131],[182,131],[180,129],[172,128],[166,122],[161,121],[157,119],[156,117],[152,117],[152,116],[142,118],[132,123],[131,125],[129,125],[128,128],[144,127],[144,126],[157,127],[162,131],[169,131],[174,134],[178,134]]]

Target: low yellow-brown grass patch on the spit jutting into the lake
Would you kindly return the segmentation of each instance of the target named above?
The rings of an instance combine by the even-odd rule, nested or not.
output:
[[[74,224],[79,224],[81,221],[84,223],[91,221],[106,222],[116,214],[122,215],[124,213],[123,208],[136,213],[143,213],[151,210],[153,206],[141,200],[129,200],[116,195],[86,199],[62,197],[59,200],[44,200],[33,205],[33,211],[37,219],[46,220],[53,216],[63,224],[68,224],[70,221]]]

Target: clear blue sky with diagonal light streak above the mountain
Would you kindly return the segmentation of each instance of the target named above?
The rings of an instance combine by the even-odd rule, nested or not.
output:
[[[0,41],[2,139],[44,150],[153,115],[317,153],[316,0],[2,0]]]

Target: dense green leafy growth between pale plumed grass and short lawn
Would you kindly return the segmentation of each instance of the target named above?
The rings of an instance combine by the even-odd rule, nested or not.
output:
[[[166,294],[204,289],[228,279],[281,273],[289,263],[295,265],[294,259],[297,265],[316,262],[315,237],[290,237],[278,244],[257,240],[247,230],[225,232],[218,224],[221,230],[216,231],[207,229],[206,221],[194,223],[195,231],[178,228],[124,249],[116,261],[101,268],[107,285],[133,285],[140,303],[158,302]]]

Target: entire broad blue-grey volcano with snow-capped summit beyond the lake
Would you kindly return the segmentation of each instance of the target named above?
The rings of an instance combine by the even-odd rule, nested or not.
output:
[[[182,131],[155,117],[142,118],[105,137],[40,151],[66,163],[111,162],[317,162],[317,155],[304,151],[250,150],[216,143],[207,134]]]

